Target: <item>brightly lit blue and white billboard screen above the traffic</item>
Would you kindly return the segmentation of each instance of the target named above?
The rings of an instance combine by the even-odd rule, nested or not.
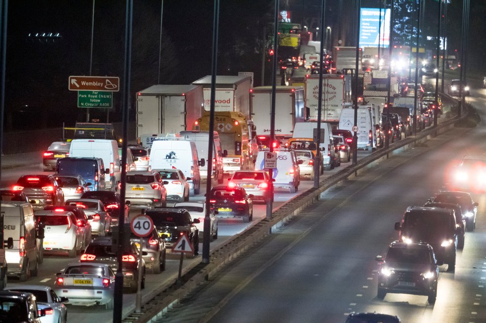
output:
[[[378,32],[380,25],[379,8],[361,8],[361,19],[359,22],[359,47],[378,47],[380,45],[387,48],[390,44],[390,9],[381,10],[381,32]]]

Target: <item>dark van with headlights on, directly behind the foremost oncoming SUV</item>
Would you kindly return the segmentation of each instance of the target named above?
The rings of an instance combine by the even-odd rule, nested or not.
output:
[[[437,263],[448,264],[448,271],[456,269],[457,237],[461,228],[456,224],[452,209],[409,206],[401,222],[395,223],[400,242],[426,242],[434,248]]]

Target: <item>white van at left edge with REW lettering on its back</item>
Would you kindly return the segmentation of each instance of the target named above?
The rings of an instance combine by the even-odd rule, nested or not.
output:
[[[42,246],[39,246],[42,240],[37,239],[35,232],[34,210],[27,202],[2,202],[1,212],[4,215],[4,239],[13,239],[13,248],[5,250],[8,275],[16,275],[25,282],[27,274],[37,275],[42,261]],[[42,235],[39,234],[39,238]]]

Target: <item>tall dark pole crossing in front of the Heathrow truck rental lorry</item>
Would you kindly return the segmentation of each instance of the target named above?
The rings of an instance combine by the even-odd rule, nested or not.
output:
[[[320,12],[320,62],[319,62],[319,93],[317,95],[317,138],[315,141],[315,163],[314,163],[314,188],[319,187],[319,176],[320,176],[320,168],[322,166],[321,160],[321,151],[320,151],[320,122],[322,119],[322,65],[323,64],[323,57],[324,57],[324,25],[326,22],[326,0],[322,0],[321,3],[321,12]],[[327,31],[327,29],[326,29]]]

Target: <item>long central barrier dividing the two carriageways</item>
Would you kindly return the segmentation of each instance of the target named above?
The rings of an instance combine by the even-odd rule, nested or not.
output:
[[[182,276],[182,282],[175,282],[177,278],[176,274],[171,276],[170,280],[174,283],[169,282],[145,295],[142,299],[144,303],[142,312],[135,313],[132,311],[123,321],[138,323],[150,322],[159,318],[169,307],[188,294],[199,283],[208,280],[211,274],[215,274],[222,266],[251,248],[260,239],[271,234],[272,229],[281,226],[310,204],[319,201],[321,194],[326,190],[341,181],[365,172],[367,168],[373,167],[381,160],[389,158],[390,155],[411,149],[418,143],[424,143],[432,137],[454,128],[458,120],[446,120],[436,128],[422,130],[414,137],[408,137],[407,139],[390,144],[388,149],[377,151],[359,160],[355,166],[348,166],[333,176],[321,180],[318,189],[310,189],[277,208],[273,212],[272,219],[262,219],[245,232],[232,237],[224,245],[212,251],[209,264],[199,263],[186,268]]]

